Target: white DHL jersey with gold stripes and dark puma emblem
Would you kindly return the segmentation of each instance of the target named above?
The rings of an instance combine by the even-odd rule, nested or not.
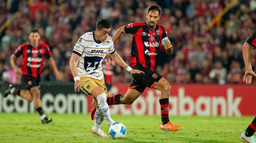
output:
[[[114,43],[110,36],[104,42],[95,40],[94,32],[82,35],[74,46],[73,53],[80,56],[77,60],[79,77],[102,79],[104,77],[101,63],[107,53],[115,52]]]

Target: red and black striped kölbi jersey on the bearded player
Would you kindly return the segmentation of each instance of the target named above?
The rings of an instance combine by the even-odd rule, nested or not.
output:
[[[161,24],[157,24],[156,28],[152,29],[146,22],[141,22],[126,24],[124,31],[133,36],[131,67],[142,65],[154,71],[161,41],[168,37],[165,28]]]

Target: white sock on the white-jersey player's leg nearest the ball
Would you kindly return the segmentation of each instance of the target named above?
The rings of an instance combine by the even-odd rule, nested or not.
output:
[[[114,123],[114,121],[110,117],[109,107],[107,105],[106,94],[105,93],[100,94],[97,97],[97,101],[98,101],[98,108],[101,111],[101,113],[103,114],[104,118],[106,119],[107,125],[110,127]],[[95,116],[95,119],[96,119],[96,116]]]

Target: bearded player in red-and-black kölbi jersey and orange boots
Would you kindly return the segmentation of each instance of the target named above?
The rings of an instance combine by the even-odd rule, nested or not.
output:
[[[119,28],[112,40],[115,43],[122,33],[132,34],[131,67],[138,69],[145,74],[132,74],[132,83],[125,95],[118,94],[107,98],[109,105],[132,104],[146,87],[161,91],[159,103],[161,106],[160,128],[166,131],[177,131],[182,126],[174,125],[169,120],[169,82],[156,73],[155,64],[159,48],[163,45],[168,54],[172,54],[173,48],[165,28],[157,24],[160,19],[160,8],[150,6],[146,14],[146,22],[130,23]]]

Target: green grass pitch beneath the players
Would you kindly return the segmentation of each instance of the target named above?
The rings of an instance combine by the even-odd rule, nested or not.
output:
[[[91,134],[90,115],[50,114],[43,125],[38,114],[0,113],[0,143],[239,143],[239,136],[254,117],[170,117],[184,126],[176,132],[159,129],[159,116],[112,115],[127,128],[124,139],[102,139]],[[108,132],[106,121],[102,129]]]

